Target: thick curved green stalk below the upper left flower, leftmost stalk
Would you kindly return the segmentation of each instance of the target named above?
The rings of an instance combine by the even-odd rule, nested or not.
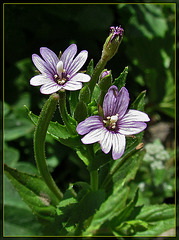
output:
[[[49,189],[56,195],[56,197],[61,200],[63,198],[63,194],[57,187],[53,178],[51,177],[45,158],[45,138],[47,134],[47,129],[50,120],[55,112],[58,100],[59,95],[52,94],[45,103],[40,113],[34,133],[34,154],[38,170],[43,177],[45,183],[47,184]]]

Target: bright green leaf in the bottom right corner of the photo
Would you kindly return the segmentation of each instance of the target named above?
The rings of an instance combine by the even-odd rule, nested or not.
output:
[[[175,228],[175,206],[167,204],[144,206],[136,220],[147,222],[149,228],[144,232],[136,233],[134,236],[158,236],[171,228]]]

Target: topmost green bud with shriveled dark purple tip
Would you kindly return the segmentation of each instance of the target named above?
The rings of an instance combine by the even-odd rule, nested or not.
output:
[[[110,27],[110,35],[106,39],[103,46],[103,51],[101,56],[103,60],[109,61],[117,53],[118,47],[123,38],[123,33],[124,33],[124,29],[121,28],[121,26]]]

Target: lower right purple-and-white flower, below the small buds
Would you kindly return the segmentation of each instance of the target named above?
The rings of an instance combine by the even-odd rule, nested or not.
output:
[[[114,160],[120,158],[125,150],[125,136],[143,131],[150,121],[148,115],[138,110],[129,109],[129,93],[125,87],[118,92],[116,86],[111,86],[104,97],[103,117],[91,116],[80,122],[77,132],[85,135],[81,141],[84,144],[99,142],[104,153],[109,153],[112,147]]]

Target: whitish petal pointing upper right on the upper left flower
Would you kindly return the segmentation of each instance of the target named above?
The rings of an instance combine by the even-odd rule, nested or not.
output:
[[[85,64],[87,57],[88,52],[86,50],[81,51],[68,68],[68,74],[73,76],[76,72],[78,72]]]

